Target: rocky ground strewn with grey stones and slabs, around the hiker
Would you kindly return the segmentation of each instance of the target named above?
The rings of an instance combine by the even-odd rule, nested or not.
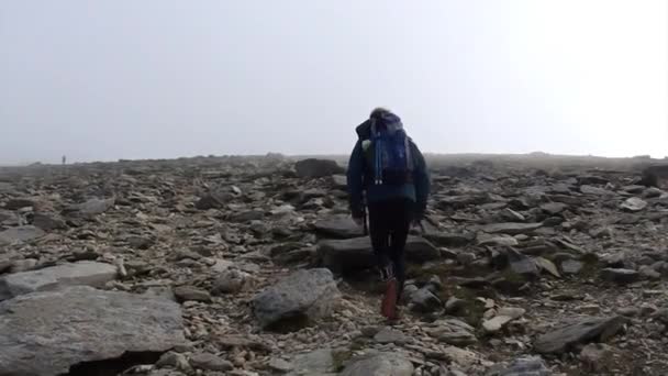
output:
[[[391,323],[334,162],[4,168],[0,375],[668,374],[668,193],[521,162],[433,161]]]

